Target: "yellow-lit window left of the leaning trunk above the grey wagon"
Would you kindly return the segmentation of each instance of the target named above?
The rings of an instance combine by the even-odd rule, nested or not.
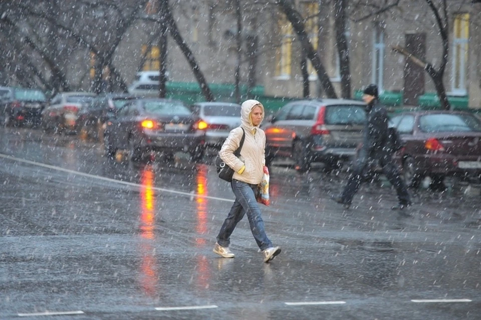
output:
[[[292,62],[292,24],[285,16],[278,21],[278,28],[281,34],[281,44],[276,50],[275,75],[278,78],[289,79],[291,77]]]

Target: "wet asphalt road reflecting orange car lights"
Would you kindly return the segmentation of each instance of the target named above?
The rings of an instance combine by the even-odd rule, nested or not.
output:
[[[247,218],[235,258],[212,252],[233,198],[208,159],[131,165],[76,136],[0,136],[0,319],[480,318],[478,189],[421,189],[399,214],[393,189],[364,185],[344,210],[329,196],[345,172],[273,166],[267,264]]]

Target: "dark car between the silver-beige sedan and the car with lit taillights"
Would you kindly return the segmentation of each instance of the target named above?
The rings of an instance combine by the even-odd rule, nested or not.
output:
[[[99,139],[103,136],[105,122],[120,107],[131,99],[138,98],[132,94],[117,92],[96,96],[86,107],[79,110],[77,131],[88,138]]]

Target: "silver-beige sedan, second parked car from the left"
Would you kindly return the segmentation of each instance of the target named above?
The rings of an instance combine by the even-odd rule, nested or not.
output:
[[[56,94],[42,112],[42,127],[46,131],[70,131],[77,129],[78,112],[89,104],[95,93],[61,92]]]

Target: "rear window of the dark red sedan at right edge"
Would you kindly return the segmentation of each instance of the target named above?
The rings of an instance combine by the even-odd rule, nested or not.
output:
[[[419,118],[423,132],[481,132],[480,121],[471,114],[426,114]]]

